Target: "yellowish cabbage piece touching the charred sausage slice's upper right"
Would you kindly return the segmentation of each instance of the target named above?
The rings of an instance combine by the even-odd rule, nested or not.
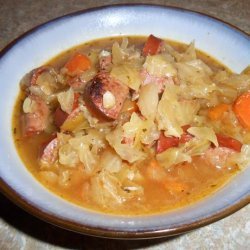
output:
[[[139,70],[132,64],[123,63],[122,65],[113,66],[110,74],[135,91],[138,91],[142,82]]]

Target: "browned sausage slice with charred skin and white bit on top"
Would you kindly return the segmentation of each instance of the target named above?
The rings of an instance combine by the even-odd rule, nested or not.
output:
[[[103,106],[103,95],[107,91],[115,97],[115,105],[111,108],[104,108]],[[129,89],[126,85],[112,78],[108,73],[100,73],[86,85],[84,99],[86,107],[98,119],[115,120],[128,93]]]

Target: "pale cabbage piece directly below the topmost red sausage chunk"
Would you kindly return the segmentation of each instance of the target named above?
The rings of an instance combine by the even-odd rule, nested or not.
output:
[[[143,67],[151,75],[157,77],[172,77],[176,76],[177,70],[173,64],[169,63],[161,54],[147,56]]]

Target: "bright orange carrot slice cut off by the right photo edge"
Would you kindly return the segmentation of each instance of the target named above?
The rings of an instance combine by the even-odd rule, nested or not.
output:
[[[250,129],[250,91],[245,92],[236,99],[233,111],[240,124],[244,128]]]

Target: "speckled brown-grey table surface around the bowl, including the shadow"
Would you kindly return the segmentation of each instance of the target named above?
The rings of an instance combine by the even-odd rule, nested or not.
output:
[[[135,1],[106,0],[105,5]],[[250,0],[151,0],[200,11],[250,33]],[[0,0],[0,49],[52,18],[103,5],[100,0]],[[0,194],[0,249],[250,249],[250,206],[211,225],[163,239],[122,241],[83,236],[29,215]]]

